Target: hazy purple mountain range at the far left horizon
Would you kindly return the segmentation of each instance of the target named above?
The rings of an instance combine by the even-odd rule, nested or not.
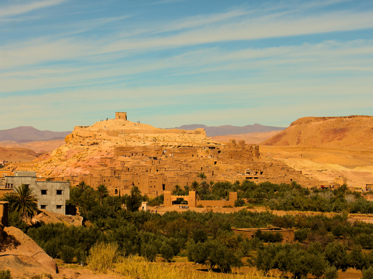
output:
[[[66,132],[52,132],[40,131],[31,126],[21,126],[8,130],[0,130],[0,141],[46,141],[65,139],[67,135],[71,134],[70,131]]]

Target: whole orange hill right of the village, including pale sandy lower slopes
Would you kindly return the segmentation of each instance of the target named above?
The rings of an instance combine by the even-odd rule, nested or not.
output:
[[[365,187],[373,182],[373,117],[305,117],[261,143],[260,153],[309,178]]]

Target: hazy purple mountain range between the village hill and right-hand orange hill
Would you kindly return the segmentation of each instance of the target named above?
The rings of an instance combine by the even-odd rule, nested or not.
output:
[[[215,136],[224,136],[224,135],[237,135],[237,134],[248,134],[248,133],[259,133],[259,132],[272,132],[272,131],[282,131],[285,128],[283,127],[272,127],[272,126],[263,126],[260,124],[246,125],[246,126],[232,126],[232,125],[223,125],[223,126],[206,126],[203,124],[191,124],[191,125],[182,125],[175,128],[165,128],[165,129],[184,129],[184,130],[195,130],[197,128],[203,128],[206,131],[206,136],[215,137]]]

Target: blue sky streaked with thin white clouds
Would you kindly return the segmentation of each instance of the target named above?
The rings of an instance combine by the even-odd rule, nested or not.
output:
[[[0,130],[373,115],[373,1],[0,1]]]

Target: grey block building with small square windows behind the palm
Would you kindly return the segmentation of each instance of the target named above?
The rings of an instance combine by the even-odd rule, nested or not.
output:
[[[5,176],[6,189],[18,188],[21,184],[34,189],[39,209],[66,214],[66,201],[70,199],[70,182],[40,181],[35,171],[15,171],[12,176]]]

